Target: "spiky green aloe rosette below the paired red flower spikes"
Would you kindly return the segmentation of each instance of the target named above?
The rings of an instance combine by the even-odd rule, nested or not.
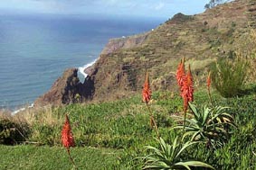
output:
[[[192,141],[205,141],[215,146],[223,145],[223,142],[230,134],[229,128],[235,127],[232,115],[225,112],[228,107],[215,106],[212,109],[204,105],[199,110],[192,103],[189,103],[193,117],[186,120],[183,139],[190,137]],[[174,129],[182,129],[184,126],[176,126]]]

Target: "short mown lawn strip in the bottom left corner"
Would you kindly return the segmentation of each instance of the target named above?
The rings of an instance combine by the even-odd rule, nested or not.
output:
[[[0,169],[72,169],[65,148],[1,146]],[[78,169],[117,169],[121,152],[108,148],[71,148]]]

